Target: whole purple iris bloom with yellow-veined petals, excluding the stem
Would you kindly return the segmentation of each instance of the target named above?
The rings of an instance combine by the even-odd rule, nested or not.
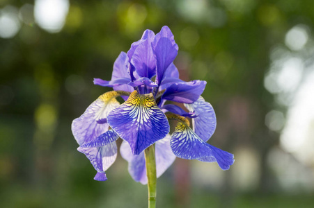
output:
[[[105,171],[117,157],[116,140],[123,139],[121,156],[130,175],[146,184],[143,150],[155,144],[157,177],[171,166],[175,157],[217,162],[222,170],[233,164],[233,155],[207,143],[216,128],[216,116],[201,94],[206,82],[180,80],[173,60],[178,54],[171,30],[164,26],[155,35],[146,30],[131,49],[121,52],[113,64],[110,81],[94,79],[95,85],[112,87],[72,122],[72,132],[97,171],[95,180],[107,180]],[[116,100],[121,96],[125,102]],[[184,103],[189,112],[166,101]],[[192,122],[192,128],[189,124]],[[177,122],[169,134],[168,120]]]

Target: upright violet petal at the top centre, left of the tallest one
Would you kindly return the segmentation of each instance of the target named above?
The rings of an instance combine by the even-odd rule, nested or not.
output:
[[[131,63],[136,69],[136,73],[141,77],[152,78],[156,74],[156,59],[152,51],[152,40],[155,34],[152,31],[146,31],[146,39],[136,47]]]

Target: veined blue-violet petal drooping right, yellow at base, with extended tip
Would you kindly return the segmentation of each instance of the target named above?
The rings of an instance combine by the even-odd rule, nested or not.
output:
[[[180,121],[171,135],[170,146],[177,157],[217,162],[223,170],[227,170],[234,162],[233,154],[207,144],[189,126]]]

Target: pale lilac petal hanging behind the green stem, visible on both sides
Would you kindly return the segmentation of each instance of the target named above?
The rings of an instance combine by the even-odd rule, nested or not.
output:
[[[157,177],[160,177],[166,169],[175,161],[175,155],[173,155],[170,148],[170,135],[167,135],[164,139],[156,142],[155,153],[156,153],[156,172]],[[146,175],[146,163],[145,155],[142,152],[139,155],[132,155],[131,148],[126,141],[123,141],[120,147],[120,153],[123,159],[129,163],[128,170],[129,174],[136,182],[141,184],[147,184]]]

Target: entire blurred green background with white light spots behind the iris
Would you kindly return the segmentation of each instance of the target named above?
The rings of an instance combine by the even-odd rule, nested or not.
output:
[[[164,25],[235,164],[176,159],[157,207],[314,207],[313,21],[313,0],[0,0],[0,207],[146,207],[120,156],[93,180],[70,125],[110,90],[93,78]]]

